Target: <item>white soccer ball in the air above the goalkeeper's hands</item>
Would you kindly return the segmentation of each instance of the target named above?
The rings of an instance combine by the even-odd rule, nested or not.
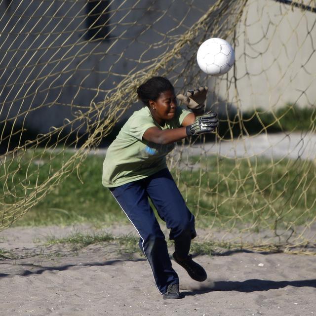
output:
[[[224,75],[233,67],[234,62],[234,49],[223,39],[205,40],[197,50],[197,64],[207,75]]]

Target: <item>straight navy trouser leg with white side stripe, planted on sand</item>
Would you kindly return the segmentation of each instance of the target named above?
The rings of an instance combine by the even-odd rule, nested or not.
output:
[[[151,266],[157,288],[161,294],[164,294],[168,285],[179,283],[179,278],[171,267],[164,235],[150,207],[142,181],[127,183],[110,190],[136,228],[141,238],[142,251]]]

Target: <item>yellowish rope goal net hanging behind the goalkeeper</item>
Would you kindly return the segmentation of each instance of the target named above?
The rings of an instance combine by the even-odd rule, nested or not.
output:
[[[260,231],[267,248],[309,249],[315,7],[315,0],[1,0],[0,228],[78,171],[136,109],[136,87],[159,75],[176,91],[208,85],[207,108],[219,113],[216,136],[184,140],[168,156],[198,221],[207,219],[221,240],[255,245]],[[197,49],[211,37],[235,49],[234,68],[221,77],[197,67]]]

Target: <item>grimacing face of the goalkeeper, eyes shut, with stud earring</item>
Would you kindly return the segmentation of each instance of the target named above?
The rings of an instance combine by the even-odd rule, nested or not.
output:
[[[174,118],[177,99],[174,91],[167,90],[160,93],[156,101],[150,101],[150,110],[155,120],[160,124]]]

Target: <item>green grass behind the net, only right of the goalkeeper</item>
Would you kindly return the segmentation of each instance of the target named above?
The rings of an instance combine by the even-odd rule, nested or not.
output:
[[[312,161],[266,158],[193,158],[202,169],[181,172],[180,189],[205,226],[298,225],[316,216],[316,165]],[[199,190],[200,188],[200,190]],[[284,226],[284,225],[283,225]]]

